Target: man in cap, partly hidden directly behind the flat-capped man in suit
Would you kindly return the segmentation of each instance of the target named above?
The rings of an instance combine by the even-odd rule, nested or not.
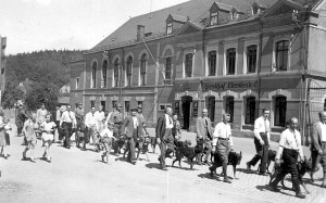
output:
[[[113,137],[116,138],[116,141],[113,144],[113,150],[114,150],[114,154],[118,155],[120,145],[123,145],[123,143],[124,143],[124,141],[121,139],[122,126],[124,124],[124,117],[123,117],[123,114],[122,114],[121,103],[117,103],[115,105],[115,111],[108,115],[105,124],[108,124],[109,122],[114,123]]]

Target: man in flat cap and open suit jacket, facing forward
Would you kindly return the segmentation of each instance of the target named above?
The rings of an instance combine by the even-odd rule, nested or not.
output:
[[[136,156],[135,156],[135,148],[136,142],[141,136],[141,122],[139,117],[137,116],[137,109],[131,109],[131,115],[127,116],[123,126],[122,126],[122,132],[125,132],[126,137],[126,151],[128,151],[127,162],[130,162],[133,164],[136,163]]]

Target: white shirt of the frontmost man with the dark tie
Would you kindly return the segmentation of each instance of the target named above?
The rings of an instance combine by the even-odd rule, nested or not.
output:
[[[280,157],[284,148],[289,149],[289,150],[298,150],[300,156],[303,157],[303,151],[302,151],[302,145],[301,145],[301,135],[298,130],[293,131],[290,128],[284,130],[280,134],[279,147],[281,147],[281,148],[278,149],[276,158]]]

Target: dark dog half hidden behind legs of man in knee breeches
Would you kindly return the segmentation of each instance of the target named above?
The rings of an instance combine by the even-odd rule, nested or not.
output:
[[[228,153],[228,163],[227,165],[231,165],[234,168],[234,177],[237,179],[236,173],[237,173],[237,165],[240,165],[242,160],[242,152],[237,153],[237,152],[229,152]],[[210,172],[211,172],[211,177],[214,177],[214,173],[216,174],[216,168],[222,166],[222,157],[221,155],[215,152],[214,153],[214,163],[213,166],[210,167]],[[223,175],[223,174],[221,174]]]

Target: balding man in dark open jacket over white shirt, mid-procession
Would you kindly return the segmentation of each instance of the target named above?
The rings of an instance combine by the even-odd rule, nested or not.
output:
[[[172,119],[172,109],[166,107],[165,114],[158,119],[156,124],[156,140],[161,149],[161,156],[159,162],[163,170],[167,170],[165,165],[165,157],[171,157],[170,154],[174,151],[174,138],[172,135],[173,119]]]

